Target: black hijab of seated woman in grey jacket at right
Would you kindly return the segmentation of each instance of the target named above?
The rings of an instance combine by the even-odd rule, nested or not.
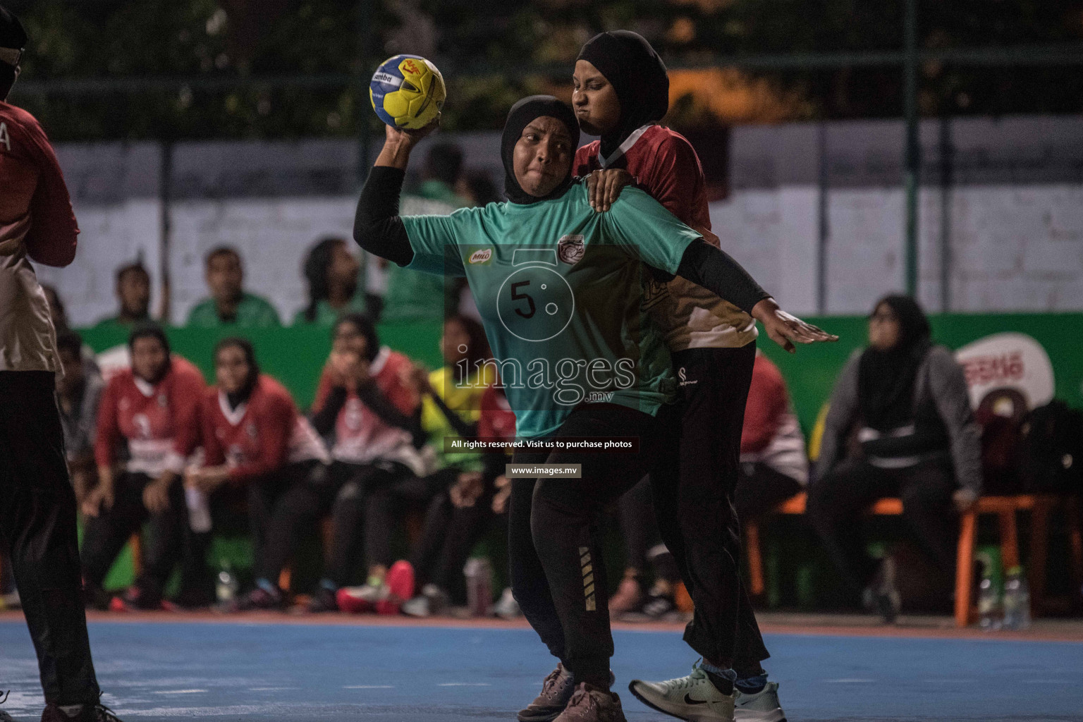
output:
[[[917,369],[932,345],[929,319],[909,296],[887,296],[873,313],[887,305],[899,319],[899,342],[885,351],[870,346],[858,366],[858,402],[865,425],[877,431],[904,426],[914,418]]]

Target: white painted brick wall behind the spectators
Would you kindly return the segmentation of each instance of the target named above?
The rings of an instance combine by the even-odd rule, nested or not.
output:
[[[919,297],[940,310],[937,121],[922,127]],[[1083,309],[1083,118],[953,121],[951,310]],[[467,163],[497,172],[498,135],[459,139]],[[736,128],[729,197],[712,204],[726,250],[799,313],[817,311],[820,183],[826,180],[826,311],[866,313],[903,286],[902,126],[898,121]],[[821,159],[821,154],[825,155]],[[158,283],[161,154],[154,144],[57,149],[82,235],[76,262],[40,268],[77,325],[115,313],[113,273],[142,258]],[[419,155],[420,157],[420,155]],[[240,249],[247,286],[288,321],[305,303],[301,260],[326,234],[349,238],[357,147],[350,141],[185,143],[172,165],[172,318],[206,296],[208,249]],[[157,309],[157,300],[155,300]]]

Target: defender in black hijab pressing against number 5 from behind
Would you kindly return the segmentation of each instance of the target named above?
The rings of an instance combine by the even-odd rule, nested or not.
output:
[[[683,136],[660,124],[669,106],[669,78],[650,43],[627,30],[595,36],[579,51],[572,88],[580,129],[601,136],[579,148],[573,165],[576,175],[597,173],[588,180],[595,209],[609,210],[622,184],[635,182],[718,247],[700,159]],[[695,604],[684,641],[703,665],[669,682],[634,680],[629,690],[683,719],[704,713],[684,701],[687,690],[712,709],[735,707],[739,719],[781,719],[777,685],[767,683],[760,666],[769,655],[738,567],[741,536],[732,501],[742,416],[757,320],[787,351],[794,342],[833,339],[783,312],[772,298],[745,313],[680,277],[653,279],[643,310],[666,340],[678,378],[679,446],[651,478],[662,539]]]

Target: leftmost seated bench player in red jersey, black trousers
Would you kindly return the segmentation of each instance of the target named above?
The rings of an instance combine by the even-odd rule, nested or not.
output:
[[[154,609],[180,561],[187,511],[181,475],[199,442],[204,380],[188,362],[171,358],[160,327],[141,326],[128,340],[132,367],[113,377],[97,413],[97,486],[82,503],[87,588],[101,603],[102,582],[133,531],[151,522],[143,570],[110,608]],[[127,455],[122,456],[127,446]]]

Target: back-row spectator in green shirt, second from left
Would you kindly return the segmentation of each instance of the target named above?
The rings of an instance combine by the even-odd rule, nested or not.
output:
[[[210,298],[192,309],[188,326],[266,328],[282,325],[278,313],[269,301],[245,292],[245,270],[236,249],[227,246],[211,249],[206,263]]]

